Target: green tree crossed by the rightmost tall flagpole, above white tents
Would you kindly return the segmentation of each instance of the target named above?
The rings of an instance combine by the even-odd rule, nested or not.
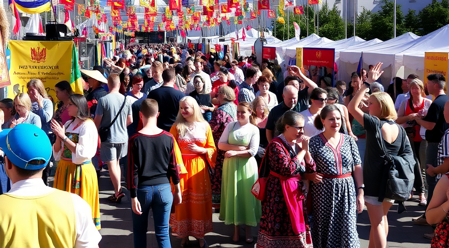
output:
[[[392,1],[384,0],[384,4],[377,13],[371,15],[371,36],[370,39],[378,38],[386,41],[394,38],[393,13],[395,5]],[[405,33],[404,14],[401,5],[396,5],[396,35]]]

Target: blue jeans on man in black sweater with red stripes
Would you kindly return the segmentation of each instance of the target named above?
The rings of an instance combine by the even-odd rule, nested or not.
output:
[[[159,248],[171,248],[168,235],[168,220],[170,219],[173,194],[171,193],[170,183],[155,186],[139,186],[137,188],[137,199],[140,202],[142,214],[138,215],[132,211],[134,247],[146,247],[148,213],[149,209],[152,209]]]

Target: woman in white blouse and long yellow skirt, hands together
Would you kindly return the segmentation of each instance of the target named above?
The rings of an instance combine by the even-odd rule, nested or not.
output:
[[[97,128],[83,95],[70,96],[67,110],[71,119],[64,126],[51,120],[51,130],[56,134],[53,154],[59,160],[53,188],[83,198],[91,206],[93,221],[100,229],[97,172],[91,161],[97,151]]]

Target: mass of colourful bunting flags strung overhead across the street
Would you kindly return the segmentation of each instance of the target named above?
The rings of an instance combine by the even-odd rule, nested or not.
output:
[[[275,9],[271,8],[273,0],[259,0],[257,4],[248,3],[247,0],[227,0],[219,3],[218,0],[169,0],[165,12],[162,13],[162,22],[157,19],[157,0],[139,0],[144,8],[144,24],[139,24],[136,9],[126,6],[125,0],[107,0],[106,6],[110,6],[110,19],[112,26],[108,25],[108,14],[100,6],[98,0],[88,0],[87,7],[77,4],[75,0],[51,0],[54,4],[64,5],[65,24],[73,29],[74,25],[70,19],[69,11],[76,11],[78,15],[91,18],[94,22],[93,29],[97,34],[125,33],[134,37],[134,32],[149,32],[157,30],[179,30],[179,35],[185,37],[187,30],[198,30],[201,27],[214,27],[222,22],[231,25],[243,25],[244,22],[254,20],[265,14],[267,18],[276,18],[277,22],[285,23],[285,9],[292,7],[293,13],[304,14],[304,6],[295,6],[293,0],[279,0]],[[189,4],[194,2],[195,4]],[[31,4],[30,4],[31,3]],[[321,4],[321,0],[308,0],[309,5]],[[22,0],[9,0],[11,12],[18,18],[18,10],[26,13],[41,13],[50,10],[50,0],[37,0],[35,2],[22,2]],[[201,7],[202,6],[202,7]],[[41,12],[39,12],[41,11]],[[127,21],[122,20],[126,12]],[[16,21],[14,33],[17,34],[20,21]],[[84,33],[85,30],[82,32]]]

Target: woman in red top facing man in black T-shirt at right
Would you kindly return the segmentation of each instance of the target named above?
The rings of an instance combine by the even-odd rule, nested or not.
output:
[[[419,79],[413,79],[410,82],[410,99],[401,103],[398,110],[398,119],[396,123],[401,124],[407,132],[410,145],[413,150],[413,157],[416,161],[414,167],[415,180],[413,187],[420,194],[420,206],[426,206],[427,199],[424,196],[426,189],[424,188],[424,180],[421,175],[420,166],[420,146],[423,141],[420,130],[421,126],[416,123],[416,119],[422,119],[427,115],[432,101],[426,98],[424,84]],[[413,142],[412,142],[413,141]],[[424,164],[424,163],[423,163]]]

